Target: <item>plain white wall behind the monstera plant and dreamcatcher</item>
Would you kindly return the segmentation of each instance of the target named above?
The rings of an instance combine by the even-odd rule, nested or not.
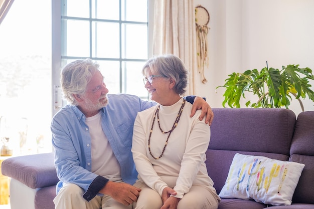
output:
[[[312,0],[195,0],[210,14],[208,82],[196,84],[196,95],[212,107],[222,107],[224,80],[232,72],[299,64],[314,71],[314,1]],[[311,82],[314,90],[314,82]],[[248,95],[247,97],[249,97]],[[244,101],[241,107],[245,107]],[[252,102],[257,98],[252,97]],[[302,100],[304,110],[314,102]],[[298,114],[297,100],[289,107]]]

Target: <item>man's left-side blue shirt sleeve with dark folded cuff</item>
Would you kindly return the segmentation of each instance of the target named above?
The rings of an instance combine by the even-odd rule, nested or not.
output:
[[[66,106],[52,120],[52,144],[57,175],[63,183],[74,183],[84,189],[91,200],[108,179],[91,172],[90,136],[85,116],[75,106]]]

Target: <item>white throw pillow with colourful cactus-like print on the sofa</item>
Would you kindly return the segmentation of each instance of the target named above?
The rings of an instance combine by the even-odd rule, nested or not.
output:
[[[236,153],[219,196],[290,205],[303,168],[297,162]]]

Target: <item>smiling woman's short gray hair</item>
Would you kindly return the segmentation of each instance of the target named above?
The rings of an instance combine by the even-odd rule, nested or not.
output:
[[[188,85],[188,71],[182,60],[175,55],[162,55],[152,57],[144,64],[142,74],[145,76],[147,70],[153,75],[161,75],[172,78],[176,81],[174,90],[177,94],[183,95]]]

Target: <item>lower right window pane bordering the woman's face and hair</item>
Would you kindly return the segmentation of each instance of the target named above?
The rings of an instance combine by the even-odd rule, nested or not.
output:
[[[147,97],[141,73],[144,62],[122,62],[124,92],[139,97]]]

